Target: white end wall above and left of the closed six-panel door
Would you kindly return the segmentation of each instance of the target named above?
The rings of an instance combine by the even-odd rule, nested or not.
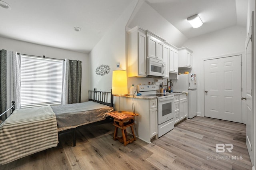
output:
[[[204,58],[244,52],[246,28],[234,26],[189,39],[183,46],[193,50],[192,73],[198,79],[198,115],[204,116]]]

